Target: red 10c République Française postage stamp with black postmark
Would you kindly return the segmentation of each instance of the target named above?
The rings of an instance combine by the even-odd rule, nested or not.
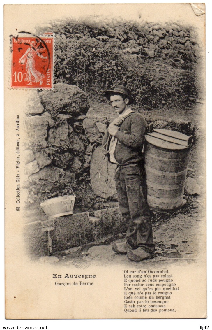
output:
[[[54,35],[12,37],[11,88],[53,87]]]

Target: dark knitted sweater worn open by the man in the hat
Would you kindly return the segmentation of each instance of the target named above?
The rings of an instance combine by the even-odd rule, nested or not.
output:
[[[119,126],[115,134],[118,139],[115,148],[115,159],[119,164],[138,163],[143,159],[142,147],[147,123],[140,113],[133,113]],[[104,145],[109,136],[108,131],[103,138]]]

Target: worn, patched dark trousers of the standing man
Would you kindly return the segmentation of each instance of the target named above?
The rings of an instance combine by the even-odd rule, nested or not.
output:
[[[127,225],[127,245],[131,249],[142,247],[154,251],[152,223],[146,201],[145,170],[140,165],[119,166],[115,175],[118,203]]]

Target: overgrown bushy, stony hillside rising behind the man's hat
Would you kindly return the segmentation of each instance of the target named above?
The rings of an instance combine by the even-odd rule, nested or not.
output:
[[[52,30],[55,82],[76,84],[93,100],[105,100],[104,90],[117,84],[132,89],[136,106],[146,109],[188,106],[200,97],[191,27],[86,19],[52,22]]]

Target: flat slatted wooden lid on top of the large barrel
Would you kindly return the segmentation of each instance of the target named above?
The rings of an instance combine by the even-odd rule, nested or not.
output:
[[[191,146],[192,136],[168,129],[154,129],[145,134],[145,140],[156,147],[181,150]]]

